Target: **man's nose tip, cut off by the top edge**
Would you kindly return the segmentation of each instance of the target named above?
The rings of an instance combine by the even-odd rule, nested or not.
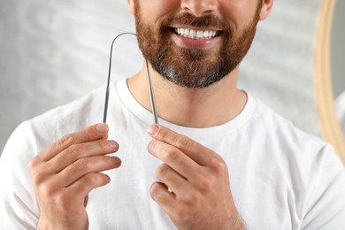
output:
[[[215,12],[218,5],[218,0],[181,0],[181,9],[196,17]]]

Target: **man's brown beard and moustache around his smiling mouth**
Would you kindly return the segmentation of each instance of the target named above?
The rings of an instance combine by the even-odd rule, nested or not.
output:
[[[145,24],[139,1],[135,1],[135,24],[139,47],[145,44],[147,58],[153,69],[176,85],[186,88],[207,88],[234,71],[246,56],[256,34],[262,1],[258,1],[257,12],[242,34],[235,35],[234,25],[217,19],[213,14],[196,18],[189,13],[166,16],[158,20],[157,27]],[[170,38],[171,25],[191,27],[218,27],[222,30],[220,49],[185,49],[175,45]]]

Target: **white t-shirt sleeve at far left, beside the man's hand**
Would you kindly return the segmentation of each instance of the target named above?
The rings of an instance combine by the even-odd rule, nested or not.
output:
[[[13,132],[0,157],[0,229],[36,229],[39,209],[27,165],[36,154],[29,122]]]

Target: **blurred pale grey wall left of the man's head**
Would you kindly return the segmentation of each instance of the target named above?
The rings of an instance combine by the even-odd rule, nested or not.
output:
[[[124,31],[134,32],[126,0],[1,0],[0,149],[23,120],[105,84]],[[113,80],[141,68],[134,37],[114,50]]]

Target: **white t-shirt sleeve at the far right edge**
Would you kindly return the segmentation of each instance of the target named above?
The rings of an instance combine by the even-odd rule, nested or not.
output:
[[[305,203],[300,229],[345,229],[345,171],[327,146],[317,169],[317,186]]]

